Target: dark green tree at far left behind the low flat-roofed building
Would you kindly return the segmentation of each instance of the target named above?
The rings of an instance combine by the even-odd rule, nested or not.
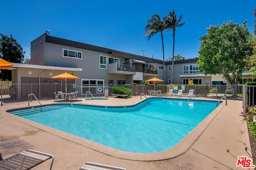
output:
[[[23,51],[18,41],[12,35],[10,37],[2,33],[0,35],[0,57],[11,63],[23,63],[25,51]],[[1,70],[0,79],[11,80],[11,78],[11,70]]]

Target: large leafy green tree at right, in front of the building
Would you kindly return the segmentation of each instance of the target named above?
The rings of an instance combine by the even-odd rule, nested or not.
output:
[[[198,64],[205,74],[220,74],[230,84],[238,84],[253,54],[253,36],[247,27],[228,21],[212,25],[208,33],[200,37]]]

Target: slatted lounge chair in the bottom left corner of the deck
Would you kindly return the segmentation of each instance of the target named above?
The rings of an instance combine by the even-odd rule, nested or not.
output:
[[[51,154],[38,152],[36,150],[24,150],[14,156],[6,158],[0,161],[1,170],[29,170],[42,162],[52,158],[52,164],[54,157]],[[52,169],[52,164],[50,170]]]

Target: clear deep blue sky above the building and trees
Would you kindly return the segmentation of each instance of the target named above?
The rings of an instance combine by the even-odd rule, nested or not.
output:
[[[3,0],[0,33],[12,34],[29,58],[30,42],[48,29],[54,37],[162,60],[160,33],[149,41],[142,34],[153,14],[163,18],[175,10],[186,24],[176,29],[174,55],[188,59],[198,57],[199,38],[210,25],[247,20],[253,33],[255,8],[255,0]],[[172,56],[172,45],[172,31],[164,33],[165,59]]]

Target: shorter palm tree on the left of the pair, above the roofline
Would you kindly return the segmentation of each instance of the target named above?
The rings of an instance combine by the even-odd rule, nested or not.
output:
[[[147,21],[147,25],[145,26],[145,33],[142,36],[148,35],[148,40],[157,34],[161,33],[162,38],[162,47],[163,47],[163,64],[164,64],[164,37],[163,31],[166,29],[165,23],[161,20],[161,17],[158,14],[154,14],[150,20]],[[163,70],[163,80],[164,80],[164,70]],[[163,82],[164,83],[164,82]]]

